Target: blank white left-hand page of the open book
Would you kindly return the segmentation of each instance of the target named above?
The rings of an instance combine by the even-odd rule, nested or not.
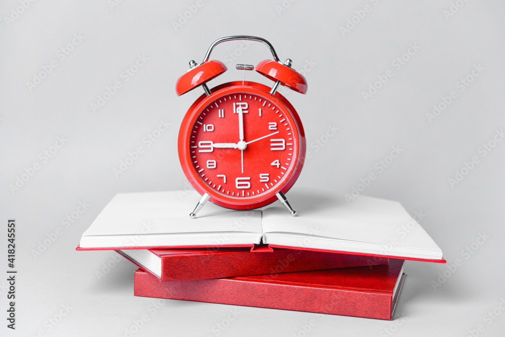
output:
[[[179,197],[177,191],[117,194],[98,215],[83,236],[254,232],[261,233],[260,211],[236,211],[208,202],[190,219],[201,196],[190,191]]]

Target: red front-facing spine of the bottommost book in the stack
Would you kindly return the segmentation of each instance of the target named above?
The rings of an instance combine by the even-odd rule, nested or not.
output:
[[[392,294],[230,278],[159,281],[135,271],[134,295],[323,314],[391,319]]]

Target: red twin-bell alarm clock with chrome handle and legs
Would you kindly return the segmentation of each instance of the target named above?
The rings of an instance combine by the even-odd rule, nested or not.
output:
[[[266,85],[234,81],[212,89],[206,82],[226,71],[209,60],[214,47],[224,41],[253,40],[266,44],[273,60],[237,69],[253,70],[275,81]],[[178,150],[182,170],[202,195],[191,218],[210,200],[231,209],[253,209],[279,199],[291,215],[284,193],[298,178],[305,161],[304,128],[293,106],[276,89],[279,84],[307,92],[304,76],[281,63],[273,46],[255,36],[228,36],[214,41],[204,61],[189,62],[190,69],[176,84],[178,95],[202,86],[205,93],[191,105],[179,130]]]

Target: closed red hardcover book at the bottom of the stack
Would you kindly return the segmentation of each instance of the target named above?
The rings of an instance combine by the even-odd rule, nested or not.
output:
[[[392,319],[405,279],[388,265],[195,281],[160,281],[138,269],[135,296]]]

